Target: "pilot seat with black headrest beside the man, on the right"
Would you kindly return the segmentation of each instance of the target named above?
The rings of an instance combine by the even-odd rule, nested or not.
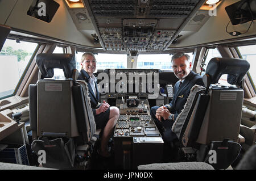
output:
[[[242,59],[212,58],[209,61],[203,76],[205,87],[192,87],[183,111],[172,126],[179,139],[174,143],[178,148],[177,159],[182,162],[179,169],[194,166],[192,162],[195,162],[196,169],[203,162],[214,169],[227,169],[237,159],[241,150],[238,135],[243,105],[243,77],[249,68],[250,64]],[[229,86],[218,84],[223,74],[228,74]],[[161,164],[159,167],[163,167]],[[172,166],[177,165],[169,164],[168,169]],[[141,165],[138,169],[151,167]]]

